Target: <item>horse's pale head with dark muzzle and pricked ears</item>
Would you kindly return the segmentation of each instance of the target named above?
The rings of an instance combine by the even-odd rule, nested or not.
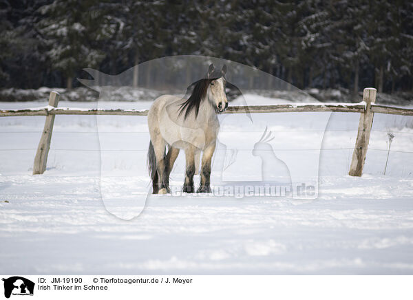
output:
[[[219,112],[225,111],[228,107],[228,99],[225,94],[225,73],[226,65],[223,65],[220,71],[216,71],[212,63],[209,65],[207,96],[208,100]]]

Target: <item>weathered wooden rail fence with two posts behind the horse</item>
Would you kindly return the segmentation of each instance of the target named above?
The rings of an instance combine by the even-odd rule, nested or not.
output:
[[[359,113],[359,130],[357,132],[356,145],[354,147],[349,175],[361,176],[366,160],[370,131],[374,113],[396,114],[401,116],[413,116],[413,109],[377,105],[376,89],[368,87],[363,91],[361,103],[297,103],[279,105],[248,105],[230,106],[223,114],[268,114],[277,112],[307,112],[307,111],[339,111]],[[50,140],[54,117],[56,115],[117,115],[117,116],[147,116],[147,110],[137,109],[77,109],[68,107],[57,107],[59,93],[51,92],[49,105],[36,109],[12,109],[0,110],[0,117],[6,116],[46,116],[45,126],[34,158],[33,174],[43,174],[46,169],[47,154],[50,149]]]

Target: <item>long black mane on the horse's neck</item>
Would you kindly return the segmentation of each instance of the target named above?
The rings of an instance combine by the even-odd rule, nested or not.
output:
[[[191,111],[195,109],[195,118],[197,118],[200,111],[201,101],[207,96],[209,84],[211,81],[215,81],[222,76],[223,75],[219,70],[215,70],[209,78],[202,78],[189,85],[187,95],[191,94],[191,96],[180,105],[179,114],[182,114],[185,111],[184,119],[186,119],[189,114],[191,114]]]

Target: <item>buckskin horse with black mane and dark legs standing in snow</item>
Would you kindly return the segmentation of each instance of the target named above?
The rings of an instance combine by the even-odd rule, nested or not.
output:
[[[182,191],[195,192],[195,161],[198,159],[199,166],[202,151],[197,193],[211,193],[211,160],[220,129],[218,114],[228,107],[225,74],[226,65],[219,70],[211,64],[207,75],[190,85],[193,88],[188,99],[162,95],[151,105],[147,117],[151,137],[147,160],[153,194],[171,193],[169,175],[181,149],[186,156]]]

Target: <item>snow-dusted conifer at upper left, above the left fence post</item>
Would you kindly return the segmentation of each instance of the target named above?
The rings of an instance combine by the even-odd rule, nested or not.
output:
[[[56,0],[39,8],[43,15],[36,28],[48,46],[46,55],[52,67],[66,78],[67,88],[72,87],[76,72],[84,67],[96,67],[103,53],[96,49],[96,41],[112,36],[111,26],[102,15],[97,0]]]

